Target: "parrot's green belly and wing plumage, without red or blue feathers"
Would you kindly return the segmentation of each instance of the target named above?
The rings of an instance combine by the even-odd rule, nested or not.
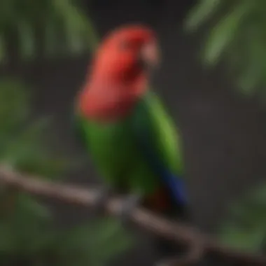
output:
[[[162,187],[162,179],[139,145],[144,136],[162,164],[172,174],[183,175],[179,133],[154,93],[147,92],[122,121],[101,124],[78,114],[77,119],[92,161],[111,187],[123,187],[144,196]]]

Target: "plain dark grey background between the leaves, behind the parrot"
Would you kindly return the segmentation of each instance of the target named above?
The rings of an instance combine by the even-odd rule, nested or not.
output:
[[[163,62],[153,85],[183,132],[188,189],[195,223],[214,232],[235,197],[266,176],[265,113],[255,99],[244,99],[226,80],[223,69],[204,71],[199,48],[204,32],[188,35],[183,19],[195,1],[97,0],[86,3],[100,36],[128,22],[144,22],[157,31]],[[58,148],[79,155],[71,121],[73,97],[83,83],[89,56],[10,64],[7,73],[22,76],[36,87],[37,114],[55,116]],[[90,162],[70,174],[76,183],[94,181]],[[63,204],[55,207],[59,225],[85,221],[89,211]],[[114,265],[151,265],[154,251],[140,233],[139,245]]]

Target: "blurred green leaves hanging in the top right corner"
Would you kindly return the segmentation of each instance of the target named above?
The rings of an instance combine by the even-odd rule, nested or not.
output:
[[[225,59],[228,73],[247,95],[266,85],[265,8],[263,0],[199,0],[186,20],[187,31],[209,22],[204,64],[214,66]]]

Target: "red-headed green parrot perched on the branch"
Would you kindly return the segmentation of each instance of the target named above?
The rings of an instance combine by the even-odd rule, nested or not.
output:
[[[76,95],[76,130],[106,184],[99,202],[110,188],[125,194],[121,218],[137,204],[188,217],[181,132],[149,84],[160,59],[153,29],[120,26],[99,44]],[[160,239],[165,253],[168,241]]]

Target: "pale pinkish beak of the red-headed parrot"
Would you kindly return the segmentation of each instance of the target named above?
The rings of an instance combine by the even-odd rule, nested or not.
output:
[[[158,46],[155,41],[145,43],[140,52],[141,61],[148,69],[154,69],[160,64]]]

